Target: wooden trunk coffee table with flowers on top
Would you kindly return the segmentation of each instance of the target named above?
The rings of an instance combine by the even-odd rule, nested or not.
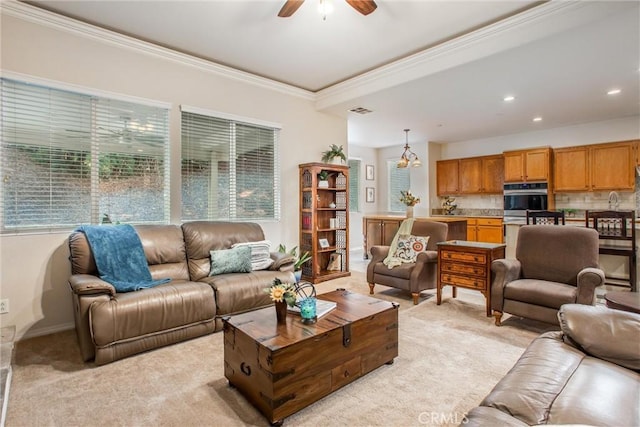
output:
[[[273,425],[398,355],[398,305],[345,290],[312,325],[274,307],[225,319],[224,374]]]

